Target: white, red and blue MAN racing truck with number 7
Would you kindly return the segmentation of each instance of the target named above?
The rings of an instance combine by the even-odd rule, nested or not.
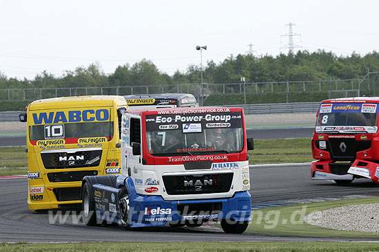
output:
[[[243,233],[251,214],[242,108],[156,108],[122,116],[121,175],[85,176],[83,220],[125,229],[219,221]]]

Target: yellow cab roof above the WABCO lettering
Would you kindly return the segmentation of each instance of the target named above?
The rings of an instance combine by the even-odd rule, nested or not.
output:
[[[127,106],[125,98],[119,95],[85,95],[36,100],[29,104],[28,111],[54,108],[83,108],[93,106]]]

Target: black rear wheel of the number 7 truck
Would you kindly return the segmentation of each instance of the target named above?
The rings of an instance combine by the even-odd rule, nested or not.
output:
[[[83,190],[81,192],[82,196],[82,215],[83,222],[85,225],[94,226],[96,225],[96,213],[94,206],[94,196],[92,195],[92,190],[90,190],[90,185],[85,183],[83,185]]]

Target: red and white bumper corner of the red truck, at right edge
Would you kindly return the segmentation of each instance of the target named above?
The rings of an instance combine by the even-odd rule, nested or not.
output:
[[[347,171],[354,176],[360,176],[367,179],[372,179],[377,185],[379,185],[379,164],[366,160],[356,159]]]

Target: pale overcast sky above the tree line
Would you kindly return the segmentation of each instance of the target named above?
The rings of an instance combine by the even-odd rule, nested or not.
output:
[[[287,54],[287,23],[300,49],[338,56],[379,47],[379,1],[0,0],[0,72],[32,79],[99,62],[105,73],[143,58],[172,75],[233,54]],[[297,50],[297,49],[296,49]]]

